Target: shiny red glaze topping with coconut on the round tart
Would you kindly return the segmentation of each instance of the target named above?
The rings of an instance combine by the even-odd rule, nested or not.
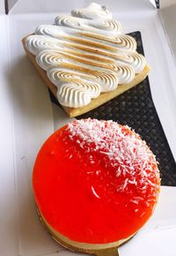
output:
[[[113,121],[73,121],[40,149],[33,169],[37,206],[59,233],[106,244],[129,237],[150,218],[159,171],[150,148]]]

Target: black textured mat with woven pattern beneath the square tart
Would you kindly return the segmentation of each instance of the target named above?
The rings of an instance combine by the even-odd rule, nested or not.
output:
[[[143,54],[141,33],[137,31],[130,35],[136,38],[137,51]],[[51,101],[59,106],[55,96],[50,93],[50,97]],[[99,108],[77,117],[77,119],[87,117],[111,119],[120,124],[128,124],[135,129],[157,156],[162,184],[176,185],[176,163],[152,102],[148,78],[136,87],[106,102]]]

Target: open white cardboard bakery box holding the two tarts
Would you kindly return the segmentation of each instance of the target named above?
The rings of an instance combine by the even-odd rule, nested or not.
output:
[[[0,8],[0,34],[3,39],[0,41],[2,256],[54,256],[58,252],[61,256],[73,255],[57,245],[40,225],[31,188],[33,162],[40,146],[50,133],[70,118],[51,104],[48,89],[26,58],[20,40],[32,33],[36,26],[52,24],[59,12],[69,12],[75,6],[86,6],[90,2],[19,0],[8,16]],[[171,15],[168,18],[166,14],[167,11],[171,14],[171,7],[158,12],[148,0],[97,2],[108,2],[114,18],[121,20],[125,32],[142,32],[145,56],[151,67],[153,101],[176,159],[175,34],[173,18]],[[1,6],[4,6],[3,1]],[[176,188],[163,187],[155,214],[134,239],[121,247],[121,255],[175,256],[175,206]]]

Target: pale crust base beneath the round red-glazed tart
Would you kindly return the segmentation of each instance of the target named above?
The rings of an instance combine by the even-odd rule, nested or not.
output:
[[[135,234],[133,234],[130,237],[121,239],[114,243],[108,243],[108,244],[102,244],[102,245],[79,243],[79,242],[70,240],[68,237],[65,237],[61,233],[57,232],[51,225],[49,225],[47,220],[40,213],[39,208],[37,208],[37,210],[38,210],[38,215],[40,216],[40,221],[42,222],[42,224],[44,225],[46,230],[48,230],[48,233],[55,239],[55,241],[57,243],[59,243],[60,245],[64,246],[65,248],[67,248],[73,252],[85,252],[85,253],[89,253],[89,254],[95,253],[96,255],[99,255],[99,251],[106,252],[112,248],[117,248],[120,245],[126,243],[130,238],[135,236]]]

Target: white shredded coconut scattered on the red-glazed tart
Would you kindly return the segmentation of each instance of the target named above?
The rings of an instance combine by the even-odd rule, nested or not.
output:
[[[153,195],[157,196],[159,171],[155,155],[128,125],[88,118],[71,122],[67,131],[70,139],[89,154],[91,163],[92,154],[97,152],[106,167],[115,170],[116,178],[121,179],[117,192],[126,192],[130,186],[135,186],[140,195],[132,200],[135,204],[143,200],[141,194],[149,187],[153,187]]]

